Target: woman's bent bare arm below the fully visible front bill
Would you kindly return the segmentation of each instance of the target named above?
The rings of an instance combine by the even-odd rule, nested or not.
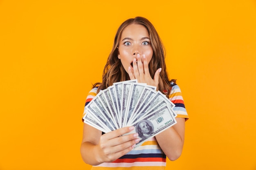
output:
[[[180,157],[184,144],[185,119],[176,120],[177,124],[155,136],[159,146],[171,161]]]

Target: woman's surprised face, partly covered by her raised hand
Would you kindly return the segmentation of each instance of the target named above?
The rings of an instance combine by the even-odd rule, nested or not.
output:
[[[132,67],[132,61],[139,54],[146,56],[148,63],[152,59],[153,49],[147,29],[143,25],[130,24],[124,29],[118,46],[118,58],[128,73],[128,67]]]

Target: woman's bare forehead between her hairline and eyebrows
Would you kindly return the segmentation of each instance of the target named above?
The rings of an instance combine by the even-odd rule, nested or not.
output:
[[[141,37],[149,37],[148,30],[145,26],[140,24],[130,24],[126,26],[124,29],[121,38],[141,38]]]

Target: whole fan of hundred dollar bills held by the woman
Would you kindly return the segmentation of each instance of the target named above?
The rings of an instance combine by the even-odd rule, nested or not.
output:
[[[141,140],[137,147],[177,123],[174,106],[166,95],[156,91],[155,86],[134,79],[116,82],[100,91],[85,106],[83,119],[84,123],[105,133],[135,126],[130,133],[139,134]]]

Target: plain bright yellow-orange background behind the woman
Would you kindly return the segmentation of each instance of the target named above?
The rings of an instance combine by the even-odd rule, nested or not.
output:
[[[86,170],[81,116],[118,26],[144,16],[189,113],[167,170],[256,170],[255,0],[0,0],[0,170]]]

